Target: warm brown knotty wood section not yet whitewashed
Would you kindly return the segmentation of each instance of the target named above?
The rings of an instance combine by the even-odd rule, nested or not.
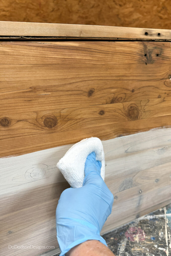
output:
[[[0,58],[1,157],[171,125],[170,42],[8,41]]]

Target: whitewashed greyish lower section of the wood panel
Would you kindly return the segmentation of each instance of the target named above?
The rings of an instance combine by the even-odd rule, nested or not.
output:
[[[171,128],[102,141],[105,182],[114,195],[102,233],[171,202]],[[0,159],[2,256],[37,255],[47,249],[8,249],[10,245],[57,247],[55,210],[69,187],[56,167],[72,145]]]

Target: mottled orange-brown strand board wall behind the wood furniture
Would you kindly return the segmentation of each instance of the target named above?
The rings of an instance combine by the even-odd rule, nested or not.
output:
[[[1,0],[0,20],[171,29],[170,0]]]

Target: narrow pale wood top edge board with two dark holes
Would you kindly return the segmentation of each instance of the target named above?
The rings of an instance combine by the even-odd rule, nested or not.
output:
[[[171,30],[95,25],[0,21],[0,38],[171,40]]]

